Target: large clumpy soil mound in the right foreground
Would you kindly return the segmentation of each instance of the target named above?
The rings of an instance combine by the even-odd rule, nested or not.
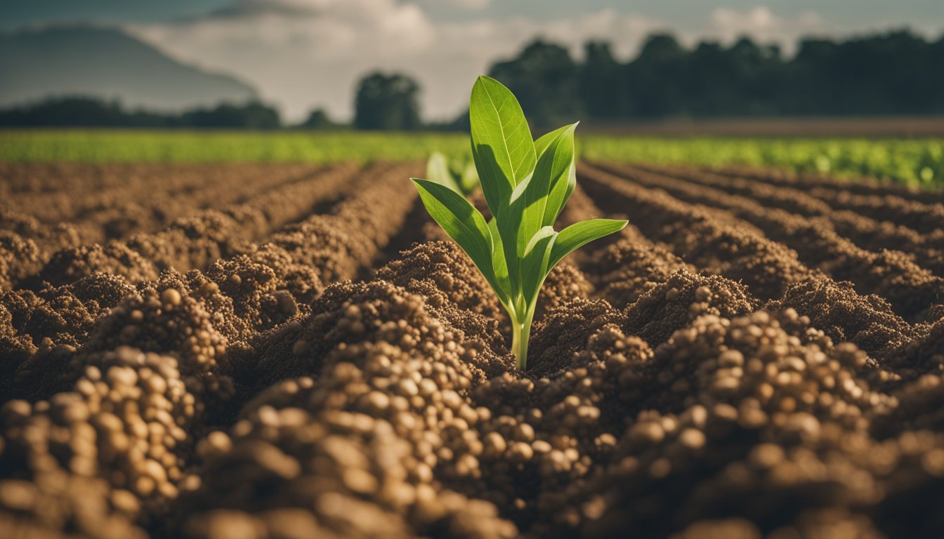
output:
[[[706,315],[656,351],[648,410],[586,486],[588,535],[663,536],[717,518],[786,532],[881,496],[860,450],[864,414],[891,401],[855,376],[863,352],[825,336],[801,344],[808,336],[785,329],[798,321],[795,312]]]

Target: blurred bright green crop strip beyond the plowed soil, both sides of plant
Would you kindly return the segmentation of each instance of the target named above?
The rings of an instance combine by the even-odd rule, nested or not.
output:
[[[586,134],[586,160],[775,166],[944,183],[944,139],[666,137]],[[0,162],[337,162],[423,160],[468,152],[461,133],[0,130]]]

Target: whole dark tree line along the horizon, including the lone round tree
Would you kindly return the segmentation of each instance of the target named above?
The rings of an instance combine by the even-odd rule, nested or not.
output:
[[[786,57],[779,46],[741,38],[684,47],[650,35],[632,60],[608,42],[587,42],[581,59],[565,46],[536,40],[488,74],[517,95],[537,126],[575,118],[597,124],[699,117],[944,114],[944,37],[929,42],[908,30],[844,41],[806,38]],[[355,93],[352,127],[370,130],[467,128],[424,124],[421,89],[410,76],[372,73]],[[278,110],[261,103],[160,113],[116,102],[65,97],[0,110],[0,126],[142,126],[275,128]],[[324,109],[296,125],[336,128]]]

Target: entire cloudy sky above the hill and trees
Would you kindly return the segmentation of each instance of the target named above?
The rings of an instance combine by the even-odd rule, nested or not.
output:
[[[424,115],[452,117],[475,76],[536,36],[575,55],[587,39],[604,39],[628,59],[663,29],[685,43],[749,34],[788,52],[808,34],[944,32],[941,0],[3,1],[0,28],[119,25],[177,59],[240,76],[290,120],[315,107],[348,119],[358,78],[374,69],[415,77]]]

